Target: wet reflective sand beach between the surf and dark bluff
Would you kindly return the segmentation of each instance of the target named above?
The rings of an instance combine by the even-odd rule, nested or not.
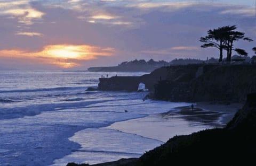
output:
[[[241,103],[223,105],[206,102],[194,105],[193,111],[190,106],[178,107],[169,112],[114,123],[106,128],[157,139],[164,143],[175,135],[187,135],[203,129],[224,127],[243,106]]]

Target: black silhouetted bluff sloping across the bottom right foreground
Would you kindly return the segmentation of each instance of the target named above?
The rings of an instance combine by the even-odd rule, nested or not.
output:
[[[256,165],[256,93],[225,128],[175,136],[139,159],[97,166]]]

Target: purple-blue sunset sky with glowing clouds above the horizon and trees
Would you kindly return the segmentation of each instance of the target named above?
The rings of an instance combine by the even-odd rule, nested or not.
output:
[[[236,25],[256,47],[255,0],[0,0],[0,69],[86,69],[136,59],[218,58],[207,30]]]

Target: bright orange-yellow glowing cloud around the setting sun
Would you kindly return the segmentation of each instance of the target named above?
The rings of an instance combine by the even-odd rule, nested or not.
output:
[[[52,64],[62,68],[79,66],[79,61],[97,59],[98,56],[114,55],[114,48],[90,45],[48,45],[41,51],[19,49],[0,50],[0,58],[37,59],[42,64]]]

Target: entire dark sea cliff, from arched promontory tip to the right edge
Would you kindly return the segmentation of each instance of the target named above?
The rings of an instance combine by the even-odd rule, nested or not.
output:
[[[161,67],[142,76],[100,78],[99,90],[137,91],[144,83],[151,98],[166,101],[243,102],[256,92],[255,65]]]

